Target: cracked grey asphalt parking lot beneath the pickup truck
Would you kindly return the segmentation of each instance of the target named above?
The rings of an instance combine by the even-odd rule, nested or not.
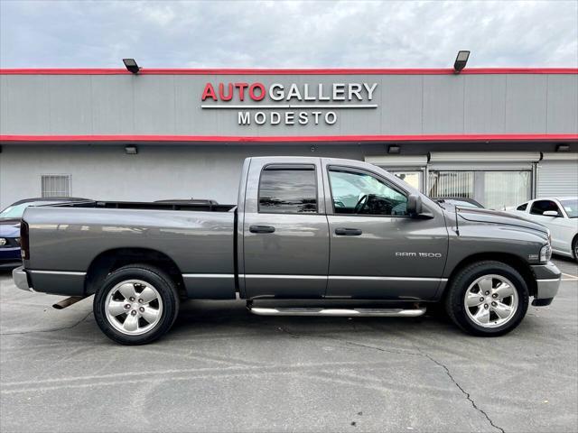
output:
[[[90,299],[0,274],[0,430],[578,431],[578,266],[499,338],[424,318],[264,318],[182,304],[153,345],[116,345]]]

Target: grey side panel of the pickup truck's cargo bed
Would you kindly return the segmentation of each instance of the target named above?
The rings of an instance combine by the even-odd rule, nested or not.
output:
[[[139,251],[154,250],[175,263],[187,291],[209,287],[234,296],[235,206],[94,201],[29,207],[23,221],[31,245],[24,264],[44,291],[70,293],[62,275],[81,290],[79,281],[102,254],[130,250],[137,261]]]

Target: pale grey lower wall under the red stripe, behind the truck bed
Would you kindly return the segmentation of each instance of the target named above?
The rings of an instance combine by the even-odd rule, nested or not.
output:
[[[305,155],[362,160],[357,145],[141,145],[126,155],[122,145],[8,145],[0,153],[0,204],[41,196],[42,174],[70,174],[71,195],[106,200],[214,198],[237,203],[241,165],[247,156]]]

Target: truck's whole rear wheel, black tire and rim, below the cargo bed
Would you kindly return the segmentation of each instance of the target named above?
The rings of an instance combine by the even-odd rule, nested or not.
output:
[[[179,312],[172,279],[144,264],[131,264],[108,274],[93,303],[98,327],[122,345],[144,345],[163,336]]]

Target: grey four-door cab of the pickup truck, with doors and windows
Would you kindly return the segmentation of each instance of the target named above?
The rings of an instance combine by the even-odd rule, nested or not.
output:
[[[252,158],[241,185],[239,287],[247,298],[435,299],[445,281],[443,209],[378,167]],[[421,201],[420,215],[410,198]]]

